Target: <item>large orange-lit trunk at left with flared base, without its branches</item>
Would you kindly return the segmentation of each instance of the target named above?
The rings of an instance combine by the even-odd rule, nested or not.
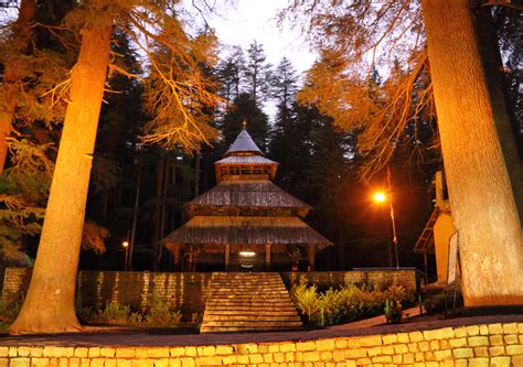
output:
[[[107,14],[83,29],[36,262],[10,334],[81,328],[74,306],[76,273],[110,35]]]

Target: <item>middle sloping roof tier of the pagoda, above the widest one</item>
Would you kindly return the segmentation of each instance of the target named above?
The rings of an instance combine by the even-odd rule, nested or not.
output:
[[[224,214],[241,213],[242,209],[266,212],[280,209],[289,215],[305,217],[311,209],[309,205],[290,195],[269,180],[224,181],[186,204],[190,217],[199,213]],[[264,214],[260,214],[264,215]]]

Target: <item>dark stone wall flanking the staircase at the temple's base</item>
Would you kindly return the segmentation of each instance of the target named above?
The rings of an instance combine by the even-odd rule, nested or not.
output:
[[[151,294],[181,310],[182,321],[200,322],[205,307],[205,292],[212,273],[205,272],[134,272],[81,271],[78,294],[83,306],[103,307],[107,302],[119,302],[140,307]],[[416,271],[407,270],[353,270],[281,273],[288,289],[301,278],[319,288],[350,283],[388,284],[392,282],[416,291]],[[31,269],[8,268],[3,280],[2,301],[12,304],[25,293]]]

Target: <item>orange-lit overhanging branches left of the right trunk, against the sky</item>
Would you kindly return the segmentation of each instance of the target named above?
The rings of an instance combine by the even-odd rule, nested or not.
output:
[[[360,131],[357,148],[367,158],[361,176],[384,168],[399,142],[409,147],[407,156],[423,160],[437,134],[419,3],[300,0],[280,15],[290,14],[320,50],[298,99]],[[388,74],[385,82],[376,69]]]

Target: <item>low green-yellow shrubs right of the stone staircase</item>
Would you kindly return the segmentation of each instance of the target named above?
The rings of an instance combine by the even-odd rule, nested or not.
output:
[[[371,287],[345,285],[318,292],[314,284],[300,282],[291,291],[292,301],[311,325],[335,325],[383,314],[386,301],[401,304],[410,300],[401,285],[384,290]]]

